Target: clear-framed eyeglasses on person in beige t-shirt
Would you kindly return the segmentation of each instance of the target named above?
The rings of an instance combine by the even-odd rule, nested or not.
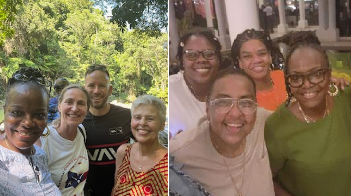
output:
[[[253,114],[257,109],[257,103],[252,99],[237,99],[237,98],[217,98],[214,100],[208,100],[208,102],[214,106],[214,109],[218,113],[229,112],[234,103],[238,103],[240,112],[246,115]]]

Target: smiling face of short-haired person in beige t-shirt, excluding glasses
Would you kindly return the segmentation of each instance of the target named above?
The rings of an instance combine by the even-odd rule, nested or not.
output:
[[[213,85],[209,99],[216,98],[248,98],[256,101],[255,89],[247,77],[230,74],[217,79]],[[210,130],[220,139],[221,144],[238,147],[253,129],[256,111],[251,115],[242,113],[237,103],[227,113],[218,113],[206,102],[207,119],[210,120]],[[219,143],[219,142],[217,142]]]

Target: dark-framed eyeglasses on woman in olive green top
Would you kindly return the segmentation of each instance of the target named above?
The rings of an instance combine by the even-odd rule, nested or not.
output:
[[[325,75],[329,71],[331,71],[330,68],[320,68],[305,75],[290,74],[286,77],[286,80],[288,81],[289,85],[294,88],[301,87],[302,85],[304,85],[305,79],[307,79],[309,83],[316,85],[324,81]]]

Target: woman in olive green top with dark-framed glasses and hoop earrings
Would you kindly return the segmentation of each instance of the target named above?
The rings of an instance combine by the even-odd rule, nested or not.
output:
[[[325,52],[300,43],[286,58],[286,103],[267,120],[276,195],[351,195],[351,89],[330,81]]]

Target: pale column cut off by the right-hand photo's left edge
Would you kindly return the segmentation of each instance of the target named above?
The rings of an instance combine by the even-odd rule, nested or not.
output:
[[[178,50],[178,24],[176,20],[176,12],[174,11],[173,0],[168,0],[168,37],[171,41],[169,45],[169,62],[176,58]]]

